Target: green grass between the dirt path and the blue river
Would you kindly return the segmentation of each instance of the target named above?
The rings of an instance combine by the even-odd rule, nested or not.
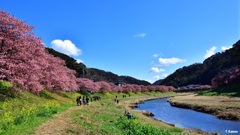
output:
[[[130,97],[121,98],[125,93],[105,93],[101,95],[102,100],[91,102],[89,106],[83,106],[76,111],[73,123],[77,128],[68,128],[68,134],[97,134],[97,135],[169,135],[181,133],[183,130],[176,127],[161,127],[154,125],[151,121],[146,123],[145,119],[133,114],[134,119],[126,119],[124,112],[126,108],[113,101],[115,96],[120,102],[137,99],[140,96],[164,95],[160,92],[131,93]],[[171,93],[168,93],[171,94]],[[167,94],[166,94],[167,95]],[[146,116],[142,117],[146,118]]]

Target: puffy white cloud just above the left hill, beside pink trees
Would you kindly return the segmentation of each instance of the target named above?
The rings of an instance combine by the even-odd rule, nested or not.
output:
[[[78,56],[82,54],[81,49],[77,48],[76,45],[70,40],[55,39],[51,42],[51,46],[54,50],[62,52],[67,55]]]

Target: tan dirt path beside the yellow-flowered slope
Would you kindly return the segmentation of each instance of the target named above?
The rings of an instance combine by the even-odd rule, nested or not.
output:
[[[74,111],[79,110],[81,107],[75,106],[69,108],[65,112],[56,114],[52,119],[46,121],[39,126],[35,132],[35,135],[63,135],[66,134],[65,129],[74,127],[71,122],[71,116]]]

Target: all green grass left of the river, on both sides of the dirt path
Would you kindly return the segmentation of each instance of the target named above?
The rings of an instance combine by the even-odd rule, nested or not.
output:
[[[140,97],[156,97],[159,95],[171,95],[173,93],[145,92],[145,93],[68,93],[42,91],[38,95],[26,91],[14,92],[7,82],[0,84],[0,134],[26,135],[34,134],[37,127],[54,114],[61,113],[70,107],[76,106],[75,99],[80,95],[99,95],[100,101],[93,101],[89,106],[85,105],[75,111],[71,118],[74,126],[65,129],[66,134],[88,135],[127,135],[127,134],[175,134],[183,130],[161,124],[151,123],[143,115],[135,115],[135,119],[125,119],[124,112],[128,101]],[[13,96],[14,95],[14,96]],[[127,95],[127,98],[122,98]],[[130,97],[128,96],[130,95]],[[118,97],[122,104],[113,101]],[[139,114],[141,114],[139,112]],[[146,120],[148,119],[148,120]],[[129,127],[126,129],[126,127]]]

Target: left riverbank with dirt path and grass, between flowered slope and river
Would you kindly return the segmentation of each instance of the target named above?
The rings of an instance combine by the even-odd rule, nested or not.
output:
[[[135,110],[129,107],[129,104],[132,104],[133,101],[136,100],[143,101],[145,99],[157,98],[163,95],[171,96],[174,94],[175,93],[172,92],[90,94],[89,96],[101,96],[101,100],[90,102],[89,105],[72,107],[62,113],[64,115],[57,114],[53,119],[39,126],[35,134],[134,135],[134,133],[140,132],[143,134],[144,132],[153,131],[161,134],[181,134],[183,132],[182,129],[153,120],[142,115],[141,112],[135,112]],[[123,95],[127,96],[123,98]],[[116,97],[119,103],[114,101]],[[125,111],[130,112],[133,115],[133,119],[126,119],[124,116]],[[127,129],[125,129],[126,127]],[[143,129],[144,131],[142,132],[141,130]]]

